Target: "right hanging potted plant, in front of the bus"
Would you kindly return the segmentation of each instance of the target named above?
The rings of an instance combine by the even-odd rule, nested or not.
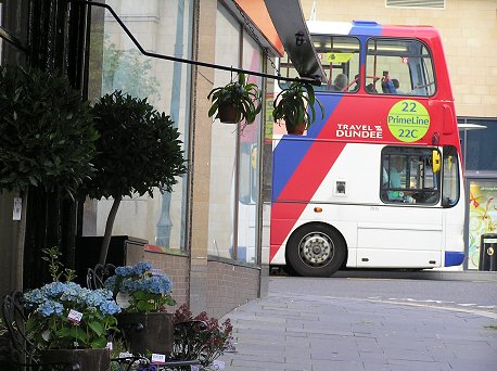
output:
[[[324,108],[316,98],[309,82],[295,80],[278,93],[273,102],[272,117],[275,123],[284,120],[288,133],[303,135],[316,120],[315,104],[324,118]]]

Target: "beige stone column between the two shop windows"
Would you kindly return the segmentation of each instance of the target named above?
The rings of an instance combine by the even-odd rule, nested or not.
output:
[[[196,1],[193,59],[215,62],[216,0]],[[211,183],[212,124],[207,93],[213,89],[214,69],[193,67],[190,169],[190,307],[193,314],[207,308],[207,248]]]

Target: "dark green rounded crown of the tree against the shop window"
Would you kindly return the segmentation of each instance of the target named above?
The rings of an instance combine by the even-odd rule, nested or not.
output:
[[[93,199],[131,196],[153,189],[171,191],[175,177],[183,175],[183,152],[174,121],[158,113],[146,99],[115,91],[93,106],[100,132],[92,162],[97,175],[85,183]]]

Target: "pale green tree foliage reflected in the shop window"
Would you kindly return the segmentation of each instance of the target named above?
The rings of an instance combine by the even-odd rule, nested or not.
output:
[[[115,43],[105,36],[103,51],[103,80],[102,92],[112,93],[123,90],[132,97],[148,98],[158,101],[160,84],[154,76],[149,76],[152,62],[145,59],[138,50],[118,50]]]

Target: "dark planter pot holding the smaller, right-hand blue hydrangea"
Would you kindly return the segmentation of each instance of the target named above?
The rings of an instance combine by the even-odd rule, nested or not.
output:
[[[146,350],[169,354],[173,350],[173,314],[120,314],[117,325],[133,354]]]

